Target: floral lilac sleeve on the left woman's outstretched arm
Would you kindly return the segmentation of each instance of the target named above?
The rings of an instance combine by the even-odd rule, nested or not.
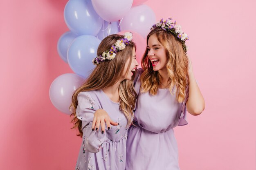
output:
[[[96,99],[95,94],[80,92],[77,96],[78,105],[76,108],[77,118],[82,121],[83,146],[92,153],[99,152],[102,149],[102,144],[106,141],[106,132],[101,134],[101,128],[98,131],[92,131],[94,112],[101,108],[99,102],[94,99]]]

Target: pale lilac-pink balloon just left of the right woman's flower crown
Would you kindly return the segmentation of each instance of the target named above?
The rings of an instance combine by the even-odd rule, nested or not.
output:
[[[154,11],[145,4],[132,7],[121,21],[120,29],[133,30],[146,38],[150,28],[155,24],[156,18]]]

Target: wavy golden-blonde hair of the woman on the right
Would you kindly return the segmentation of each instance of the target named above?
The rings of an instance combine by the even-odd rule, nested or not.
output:
[[[170,93],[176,93],[176,100],[181,103],[184,101],[186,93],[186,86],[189,84],[188,79],[188,66],[189,59],[182,48],[182,43],[172,33],[164,31],[161,28],[155,28],[147,36],[148,39],[151,35],[156,35],[157,40],[164,46],[168,61],[166,64],[168,80],[171,80],[169,87]],[[152,63],[148,58],[148,50],[146,49],[144,56],[141,60],[141,67],[144,72],[141,74],[141,92],[149,91],[150,94],[156,95],[157,89],[162,82],[161,76],[158,71],[153,71]],[[175,91],[172,93],[173,88]]]

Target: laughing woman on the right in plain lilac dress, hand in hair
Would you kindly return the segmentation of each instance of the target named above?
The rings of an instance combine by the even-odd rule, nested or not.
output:
[[[200,115],[204,98],[187,56],[189,37],[171,18],[153,25],[135,77],[138,93],[128,131],[126,170],[180,170],[173,128],[188,124],[186,111]],[[106,112],[97,111],[98,117]]]

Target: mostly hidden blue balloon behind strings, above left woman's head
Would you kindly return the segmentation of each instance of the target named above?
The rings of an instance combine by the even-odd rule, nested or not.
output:
[[[101,27],[101,30],[97,35],[97,38],[99,38],[100,40],[103,40],[108,35],[118,33],[120,31],[120,28],[118,26],[119,26],[119,21],[116,21],[116,22],[104,21]]]

